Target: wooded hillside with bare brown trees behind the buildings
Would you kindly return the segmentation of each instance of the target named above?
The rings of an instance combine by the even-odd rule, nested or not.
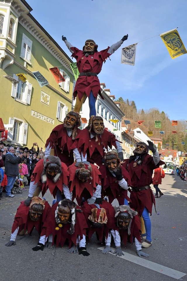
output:
[[[163,148],[168,147],[169,149],[187,151],[186,120],[177,120],[178,125],[172,126],[172,120],[169,119],[167,113],[164,111],[160,112],[158,108],[137,110],[134,101],[124,100],[122,97],[116,101],[120,102],[120,109],[125,114],[122,120],[123,126],[124,120],[129,120],[131,122],[131,124],[128,124],[129,130],[139,127],[147,136],[148,131],[152,131],[153,137],[163,140]],[[145,122],[138,124],[139,120]],[[155,128],[155,121],[161,121],[161,128]],[[160,131],[164,131],[165,134],[160,134]],[[172,131],[176,131],[177,133],[172,133]]]

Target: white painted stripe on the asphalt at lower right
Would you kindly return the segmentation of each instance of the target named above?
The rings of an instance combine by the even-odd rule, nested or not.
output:
[[[103,250],[104,248],[105,247],[100,247],[100,248],[98,248],[98,250]],[[115,250],[115,248],[111,248],[111,249]],[[170,276],[170,277],[175,278],[177,280],[186,275],[186,273],[174,270],[172,268],[163,266],[161,264],[156,264],[153,261],[148,261],[147,259],[141,259],[138,256],[134,256],[134,255],[128,254],[126,252],[123,252],[123,253],[124,253],[124,256],[122,256],[122,257],[117,256],[117,257],[122,258],[122,259],[126,259],[127,261],[131,261],[134,264],[139,264],[141,266],[152,269],[154,271],[157,271],[157,272],[162,273],[164,275]],[[113,255],[110,252],[109,252],[109,254]]]

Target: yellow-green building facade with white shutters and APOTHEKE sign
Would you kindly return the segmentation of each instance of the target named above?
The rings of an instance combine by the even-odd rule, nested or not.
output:
[[[75,80],[72,60],[31,11],[25,1],[0,3],[1,118],[8,130],[6,144],[31,148],[38,143],[44,148],[52,129],[72,108]],[[58,67],[64,82],[56,82],[49,70],[53,67]],[[25,81],[16,75],[20,73]]]

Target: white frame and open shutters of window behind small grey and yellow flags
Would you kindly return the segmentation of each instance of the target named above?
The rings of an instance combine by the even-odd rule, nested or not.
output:
[[[21,81],[17,75],[13,74],[13,78]],[[21,81],[22,82],[22,81]],[[23,83],[23,82],[22,82]],[[24,86],[23,86],[23,94],[22,94],[22,99],[18,99],[16,97],[17,95],[17,89],[18,89],[18,84],[16,85],[12,85],[12,92],[11,92],[11,96],[13,96],[13,98],[15,99],[15,101],[18,101],[20,103],[23,103],[25,105],[30,105],[30,101],[31,101],[31,94],[32,94],[32,84],[28,82],[28,80],[26,80],[26,82],[24,82]]]

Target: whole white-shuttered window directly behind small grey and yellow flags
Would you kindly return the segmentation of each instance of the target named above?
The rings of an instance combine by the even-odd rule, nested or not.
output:
[[[12,85],[11,96],[14,97],[15,101],[19,101],[25,105],[30,105],[32,84],[27,80],[23,82],[15,74],[13,74],[13,78],[18,80],[18,83],[16,85]]]

